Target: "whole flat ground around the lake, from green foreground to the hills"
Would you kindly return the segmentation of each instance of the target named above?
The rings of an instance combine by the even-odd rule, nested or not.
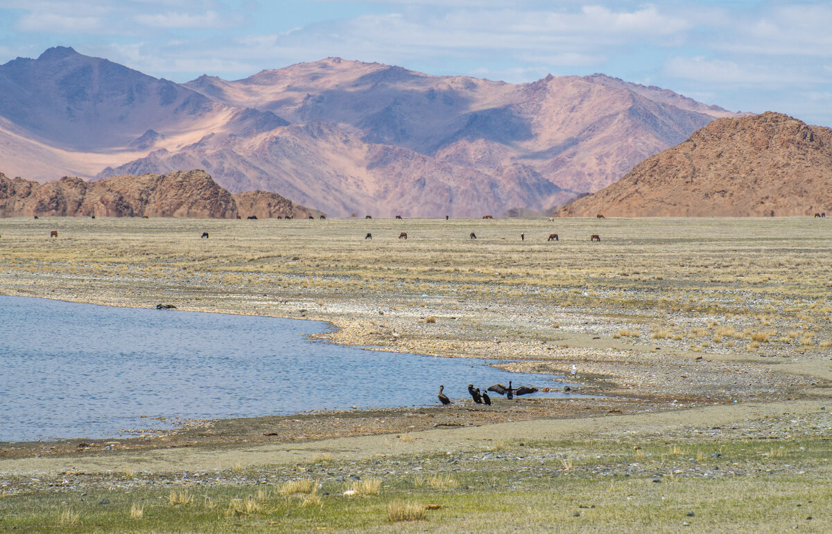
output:
[[[830,224],[0,220],[2,294],[320,319],[598,396],[0,443],[0,531],[825,532]]]

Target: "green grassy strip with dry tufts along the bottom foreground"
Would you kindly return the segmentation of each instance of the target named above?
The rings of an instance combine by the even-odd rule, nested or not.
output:
[[[262,467],[245,472],[265,482],[251,487],[158,485],[149,473],[112,473],[97,490],[0,498],[0,530],[828,532],[830,456],[822,439],[512,441],[462,459],[356,465],[324,457],[296,466],[285,482],[267,482],[270,468]],[[319,482],[319,472],[334,471],[375,474]]]

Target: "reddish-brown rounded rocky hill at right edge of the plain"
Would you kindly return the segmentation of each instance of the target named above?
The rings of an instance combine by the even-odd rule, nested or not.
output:
[[[567,205],[564,216],[832,212],[832,130],[770,111],[724,118]]]

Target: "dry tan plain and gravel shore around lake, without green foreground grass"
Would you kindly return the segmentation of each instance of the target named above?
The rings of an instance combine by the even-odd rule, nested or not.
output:
[[[511,370],[542,375],[574,363],[582,393],[601,398],[200,422],[111,443],[7,443],[0,475],[223,469],[322,452],[476,449],[495,436],[699,429],[730,438],[742,426],[780,436],[795,413],[825,411],[832,243],[802,237],[814,221],[606,220],[598,230],[594,220],[564,220],[557,249],[541,237],[552,230],[543,220],[444,223],[0,220],[0,293],[319,319],[336,327],[321,336],[334,343],[505,358]],[[49,239],[52,227],[60,240]],[[406,242],[394,237],[400,228]],[[199,239],[203,229],[210,240]],[[480,239],[460,238],[467,230]],[[582,239],[598,232],[602,245]]]

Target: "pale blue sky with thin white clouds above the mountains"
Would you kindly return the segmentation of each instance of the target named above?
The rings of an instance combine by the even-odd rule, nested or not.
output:
[[[324,57],[512,83],[602,72],[832,126],[829,0],[0,0],[0,63],[58,45],[175,82]]]

